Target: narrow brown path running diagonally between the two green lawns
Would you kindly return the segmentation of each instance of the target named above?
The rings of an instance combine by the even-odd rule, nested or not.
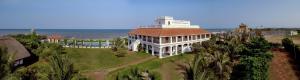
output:
[[[154,58],[156,58],[156,57],[151,56],[151,57],[136,60],[134,62],[130,62],[130,63],[127,63],[127,64],[122,64],[122,65],[117,66],[117,67],[107,68],[107,69],[103,69],[103,70],[96,70],[96,71],[93,71],[93,72],[89,72],[87,74],[87,76],[92,78],[92,79],[95,79],[95,80],[105,80],[105,77],[109,72],[112,72],[112,71],[115,71],[115,70],[118,70],[118,69],[122,69],[122,68],[125,68],[125,67],[128,67],[128,66],[131,66],[131,65],[136,65],[136,64],[154,59]]]

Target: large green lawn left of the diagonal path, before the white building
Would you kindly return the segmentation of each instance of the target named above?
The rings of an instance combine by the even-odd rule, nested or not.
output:
[[[150,56],[149,54],[139,53],[117,57],[111,49],[99,48],[65,48],[65,51],[74,62],[75,69],[81,72],[116,67]]]

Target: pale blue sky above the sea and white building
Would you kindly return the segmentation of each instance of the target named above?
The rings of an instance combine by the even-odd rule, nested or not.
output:
[[[203,28],[300,27],[300,0],[0,0],[0,29],[128,29],[158,16]]]

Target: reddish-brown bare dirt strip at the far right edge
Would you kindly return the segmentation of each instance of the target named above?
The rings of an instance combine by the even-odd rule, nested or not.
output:
[[[273,59],[270,66],[270,80],[299,80],[296,75],[292,59],[284,50],[273,51]]]

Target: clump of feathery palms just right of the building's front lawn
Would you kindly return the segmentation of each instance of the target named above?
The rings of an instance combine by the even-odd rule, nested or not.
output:
[[[187,80],[229,79],[231,62],[227,45],[218,41],[205,41],[195,55],[192,64],[185,69]]]

